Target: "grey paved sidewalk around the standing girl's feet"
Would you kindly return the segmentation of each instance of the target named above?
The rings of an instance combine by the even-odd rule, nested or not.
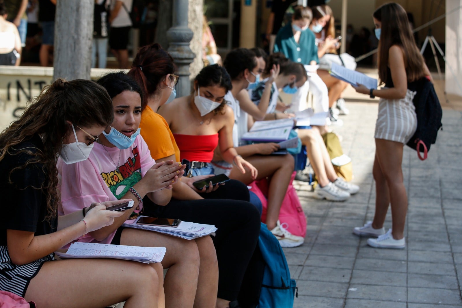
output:
[[[366,96],[362,97],[366,98]],[[403,250],[377,249],[352,234],[372,220],[372,163],[377,101],[347,101],[351,113],[335,129],[353,159],[359,193],[344,203],[318,201],[296,185],[308,217],[305,243],[284,249],[297,280],[297,308],[462,307],[462,112],[442,99],[443,131],[425,161],[405,147],[409,198]],[[458,110],[458,111],[457,111]],[[385,228],[391,228],[390,210]]]

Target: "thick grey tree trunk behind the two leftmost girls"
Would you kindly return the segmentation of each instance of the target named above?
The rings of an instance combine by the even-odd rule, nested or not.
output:
[[[90,79],[94,3],[94,0],[57,1],[54,79]]]

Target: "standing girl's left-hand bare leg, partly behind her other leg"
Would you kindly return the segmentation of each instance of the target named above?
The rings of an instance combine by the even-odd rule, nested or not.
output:
[[[385,180],[382,169],[380,169],[377,154],[374,159],[372,175],[376,182],[376,211],[374,214],[374,220],[372,221],[372,228],[379,229],[383,227],[385,216],[387,216],[388,207],[390,205],[390,195],[387,181]]]

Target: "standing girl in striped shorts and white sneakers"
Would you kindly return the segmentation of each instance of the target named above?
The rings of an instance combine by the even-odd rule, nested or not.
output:
[[[380,97],[375,130],[376,155],[372,173],[376,181],[374,220],[356,227],[357,235],[377,237],[367,244],[377,248],[404,248],[407,195],[401,169],[403,146],[413,136],[417,118],[413,105],[416,81],[430,75],[414,41],[406,11],[396,3],[380,6],[373,14],[379,39],[380,89],[355,86],[359,93]],[[385,233],[383,222],[391,203],[392,228]]]

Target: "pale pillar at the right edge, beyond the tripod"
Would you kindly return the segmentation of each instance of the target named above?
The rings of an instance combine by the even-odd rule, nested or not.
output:
[[[446,12],[459,7],[446,16],[446,67],[445,90],[462,96],[462,0],[446,0]],[[451,73],[454,72],[454,75]]]

